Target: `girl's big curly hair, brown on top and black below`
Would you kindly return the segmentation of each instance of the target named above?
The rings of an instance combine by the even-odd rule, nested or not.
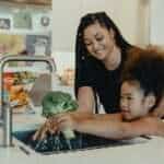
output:
[[[164,52],[156,49],[131,49],[129,54],[131,58],[126,61],[121,83],[137,81],[145,96],[154,94],[154,109],[164,93]]]

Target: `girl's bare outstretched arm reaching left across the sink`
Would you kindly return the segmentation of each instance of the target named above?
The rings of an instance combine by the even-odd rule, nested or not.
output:
[[[164,122],[156,117],[145,117],[131,122],[110,119],[83,119],[74,124],[74,130],[108,139],[129,139],[139,136],[164,136]]]

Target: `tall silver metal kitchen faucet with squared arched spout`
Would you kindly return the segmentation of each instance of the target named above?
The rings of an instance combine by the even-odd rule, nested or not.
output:
[[[49,66],[51,73],[56,71],[56,65],[52,58],[46,56],[23,56],[23,55],[10,55],[0,57],[0,97],[1,97],[1,116],[2,116],[2,127],[3,127],[3,145],[12,145],[12,109],[10,107],[10,101],[4,98],[4,87],[3,87],[3,72],[4,66],[10,61],[35,61],[35,62],[46,62]],[[8,99],[8,101],[7,101]]]

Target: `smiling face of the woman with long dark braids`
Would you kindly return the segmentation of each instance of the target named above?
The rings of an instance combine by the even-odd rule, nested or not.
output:
[[[114,31],[108,31],[99,23],[87,26],[83,39],[87,51],[98,60],[105,60],[115,46]]]

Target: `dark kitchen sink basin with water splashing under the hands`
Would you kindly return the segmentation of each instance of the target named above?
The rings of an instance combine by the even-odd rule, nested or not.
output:
[[[47,138],[42,141],[33,141],[32,136],[35,133],[35,131],[36,130],[16,131],[13,132],[13,136],[35,152],[42,154],[84,151],[107,147],[121,147],[128,144],[131,145],[140,142],[131,142],[131,140],[109,140],[79,132],[75,132],[75,138],[71,140],[67,140],[62,136],[62,133],[60,133],[58,136],[48,134]]]

